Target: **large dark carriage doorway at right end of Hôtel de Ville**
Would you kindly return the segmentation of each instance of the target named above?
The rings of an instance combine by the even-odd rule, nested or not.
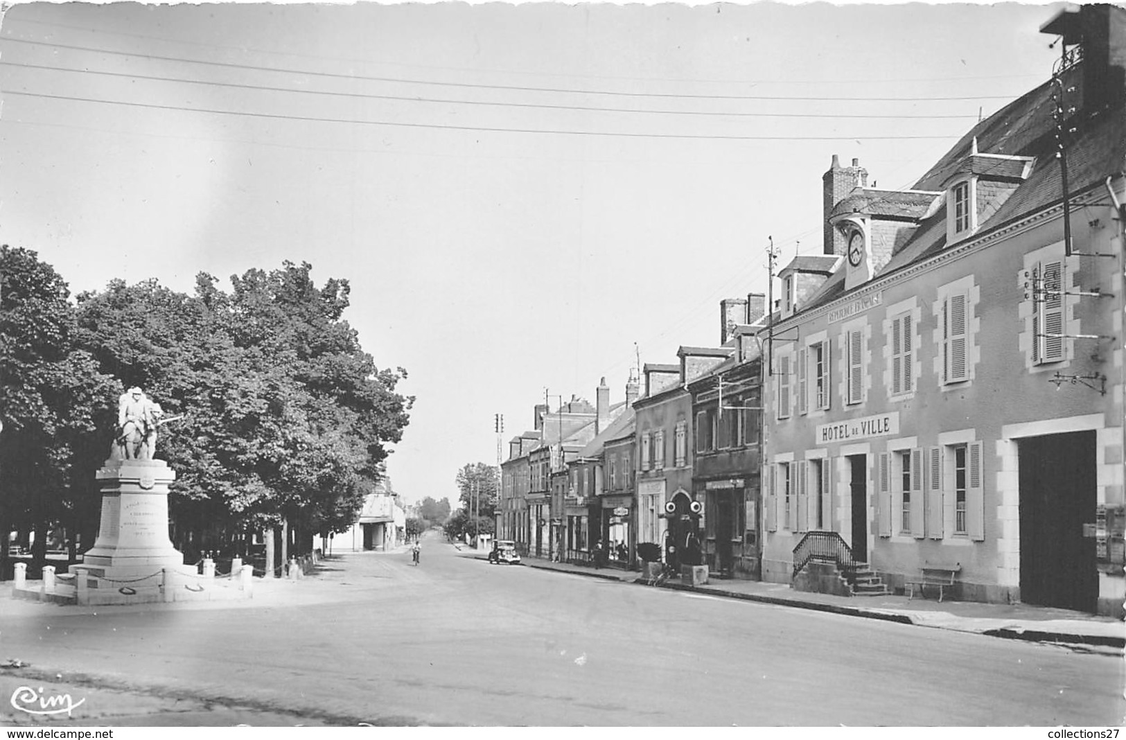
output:
[[[1093,537],[1098,502],[1096,434],[1075,431],[1018,440],[1020,600],[1094,612],[1099,578]]]

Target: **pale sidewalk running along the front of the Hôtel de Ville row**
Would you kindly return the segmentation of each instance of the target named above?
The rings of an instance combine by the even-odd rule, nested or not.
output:
[[[463,547],[464,555],[484,560],[483,551]],[[616,568],[596,570],[586,565],[553,563],[536,558],[525,558],[524,565],[588,576],[628,583],[644,583],[635,571]],[[676,580],[662,588],[695,591],[724,598],[744,599],[760,604],[775,604],[848,616],[914,624],[923,627],[973,632],[995,638],[1057,642],[1066,644],[1111,648],[1117,652],[1126,648],[1126,625],[1120,619],[1096,616],[1071,609],[1056,609],[1028,604],[983,604],[980,601],[939,603],[933,597],[909,599],[906,596],[832,596],[795,591],[787,583],[766,583],[747,580],[712,580],[704,586],[685,586]]]

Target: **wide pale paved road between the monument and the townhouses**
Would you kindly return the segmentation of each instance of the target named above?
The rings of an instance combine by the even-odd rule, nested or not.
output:
[[[278,605],[3,616],[3,657],[107,688],[327,723],[1117,725],[1126,715],[1123,661],[1105,654],[491,565],[437,537],[418,568],[405,552],[330,568],[287,585],[293,599]]]

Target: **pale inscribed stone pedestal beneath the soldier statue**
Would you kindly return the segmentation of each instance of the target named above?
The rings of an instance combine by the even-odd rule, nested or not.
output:
[[[162,460],[110,460],[97,478],[101,523],[83,567],[117,578],[182,569],[184,555],[168,538],[168,485],[176,471]]]

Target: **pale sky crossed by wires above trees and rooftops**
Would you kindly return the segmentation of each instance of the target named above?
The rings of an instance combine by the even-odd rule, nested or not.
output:
[[[1048,79],[1045,5],[24,3],[0,242],[72,293],[309,261],[417,396],[387,471],[456,500],[533,407],[623,401],[820,253],[821,176],[910,187]],[[159,399],[158,399],[159,400]],[[507,448],[506,448],[507,449]]]

